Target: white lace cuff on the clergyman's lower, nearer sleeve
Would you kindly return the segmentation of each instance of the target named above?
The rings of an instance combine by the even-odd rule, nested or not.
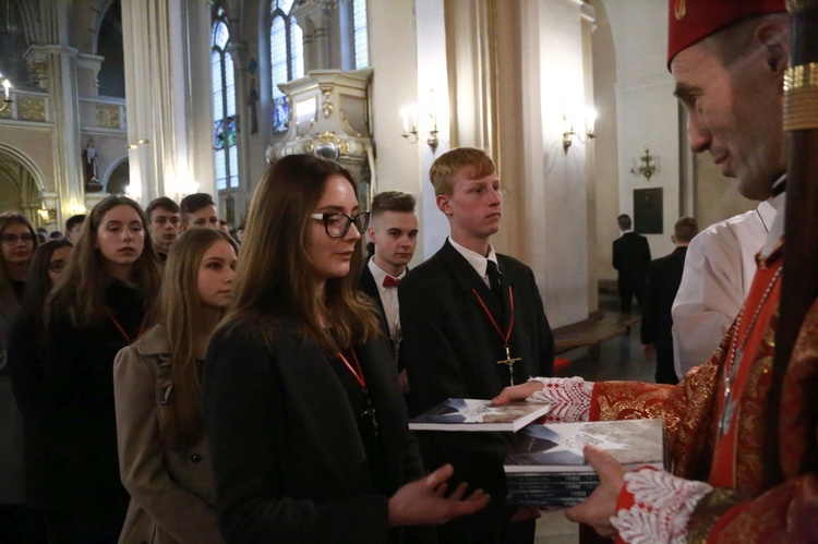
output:
[[[664,471],[628,472],[624,491],[634,496],[635,504],[616,512],[611,524],[630,544],[682,544],[687,541],[687,522],[696,504],[712,489]]]

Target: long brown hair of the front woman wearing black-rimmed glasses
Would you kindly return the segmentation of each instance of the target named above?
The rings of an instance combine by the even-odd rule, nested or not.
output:
[[[224,327],[241,324],[272,344],[276,322],[300,323],[300,331],[315,340],[327,355],[378,335],[369,304],[358,293],[363,237],[352,255],[350,273],[328,279],[324,307],[315,297],[310,262],[310,214],[321,201],[330,177],[349,181],[352,174],[337,162],[311,155],[290,155],[274,164],[262,178],[250,206],[241,261],[236,273],[233,307]],[[327,317],[324,328],[320,315]]]

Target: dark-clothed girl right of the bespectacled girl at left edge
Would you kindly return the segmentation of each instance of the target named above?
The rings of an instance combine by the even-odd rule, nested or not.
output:
[[[71,257],[73,244],[68,240],[52,240],[34,252],[28,267],[25,295],[9,340],[9,371],[17,407],[23,412],[25,428],[25,477],[28,504],[39,513],[39,525],[45,527],[49,541],[59,541],[64,530],[61,516],[51,500],[44,475],[59,472],[55,456],[45,448],[43,434],[43,361],[39,353],[43,335],[43,314],[46,299],[59,280]],[[25,539],[23,539],[25,540]]]

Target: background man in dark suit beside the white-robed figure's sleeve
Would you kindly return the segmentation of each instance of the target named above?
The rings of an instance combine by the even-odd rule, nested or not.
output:
[[[685,255],[690,240],[699,232],[693,217],[683,217],[673,226],[671,240],[676,249],[670,255],[648,265],[642,304],[642,353],[650,356],[655,349],[657,384],[678,384],[673,364],[673,317],[671,309],[682,283]]]

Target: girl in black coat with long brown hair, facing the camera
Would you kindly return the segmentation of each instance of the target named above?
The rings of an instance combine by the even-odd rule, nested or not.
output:
[[[44,430],[65,470],[76,542],[113,542],[128,493],[119,480],[113,358],[142,336],[159,290],[147,218],[125,196],[100,201],[46,304]]]

